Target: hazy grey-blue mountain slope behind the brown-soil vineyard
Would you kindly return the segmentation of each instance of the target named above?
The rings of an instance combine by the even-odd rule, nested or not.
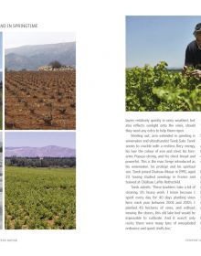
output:
[[[5,68],[8,70],[37,70],[57,60],[62,65],[76,66],[76,43],[22,46],[5,49]]]

